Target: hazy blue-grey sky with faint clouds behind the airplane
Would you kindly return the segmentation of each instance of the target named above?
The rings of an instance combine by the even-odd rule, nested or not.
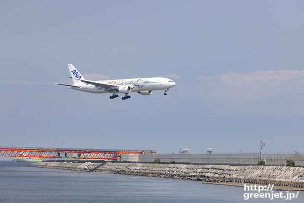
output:
[[[0,1],[1,146],[304,151],[304,2]],[[57,86],[171,77],[167,96]],[[157,105],[160,104],[160,105]]]

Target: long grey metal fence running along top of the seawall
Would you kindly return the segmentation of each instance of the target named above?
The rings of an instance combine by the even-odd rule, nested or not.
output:
[[[126,157],[127,158],[127,157]],[[286,159],[294,161],[295,166],[304,167],[304,153],[211,153],[211,154],[144,154],[138,155],[139,163],[151,163],[154,159],[160,163],[175,161],[176,164],[225,164],[225,165],[257,165],[262,160],[266,166],[285,166]],[[130,160],[132,161],[132,160]]]

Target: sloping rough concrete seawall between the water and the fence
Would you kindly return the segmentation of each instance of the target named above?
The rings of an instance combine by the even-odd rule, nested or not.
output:
[[[244,186],[274,184],[274,189],[304,190],[304,168],[287,166],[228,166],[139,163],[57,163],[29,166],[64,170],[128,174],[204,181],[210,184]]]

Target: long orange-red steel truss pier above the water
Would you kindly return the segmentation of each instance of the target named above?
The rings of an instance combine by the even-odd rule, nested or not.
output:
[[[0,156],[64,159],[117,159],[122,154],[155,154],[155,150],[0,147]]]

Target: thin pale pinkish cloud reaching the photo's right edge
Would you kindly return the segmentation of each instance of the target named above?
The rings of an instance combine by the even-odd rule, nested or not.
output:
[[[304,71],[228,72],[199,78],[214,95],[234,101],[254,101],[271,96],[290,96],[303,91]]]

